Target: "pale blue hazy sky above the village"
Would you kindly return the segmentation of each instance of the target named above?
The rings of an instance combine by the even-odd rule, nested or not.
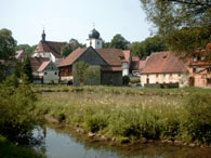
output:
[[[1,0],[0,29],[12,30],[17,44],[38,44],[43,28],[49,41],[85,43],[93,24],[106,42],[117,34],[130,42],[150,36],[140,0]]]

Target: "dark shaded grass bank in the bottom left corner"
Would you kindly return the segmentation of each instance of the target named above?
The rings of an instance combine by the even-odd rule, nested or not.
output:
[[[0,135],[0,157],[1,158],[44,158],[41,154],[32,149],[15,146]]]

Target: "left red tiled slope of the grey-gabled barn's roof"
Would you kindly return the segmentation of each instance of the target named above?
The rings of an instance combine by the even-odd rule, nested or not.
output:
[[[78,48],[71,54],[69,54],[60,65],[58,67],[68,66],[74,64],[74,62],[87,50],[87,48]]]

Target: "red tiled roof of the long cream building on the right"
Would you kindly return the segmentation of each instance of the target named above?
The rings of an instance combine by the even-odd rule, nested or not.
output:
[[[187,62],[172,55],[171,52],[153,53],[142,70],[142,74],[183,73],[187,70]]]

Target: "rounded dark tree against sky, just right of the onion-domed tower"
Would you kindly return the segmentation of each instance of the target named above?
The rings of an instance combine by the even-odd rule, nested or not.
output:
[[[109,48],[126,50],[128,49],[128,43],[129,41],[127,41],[120,34],[117,34],[110,41]]]

